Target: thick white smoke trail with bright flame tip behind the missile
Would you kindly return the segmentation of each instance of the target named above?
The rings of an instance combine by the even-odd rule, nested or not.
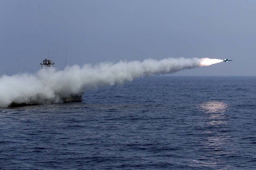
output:
[[[169,74],[184,69],[209,66],[221,62],[209,58],[166,58],[140,61],[103,62],[97,65],[74,65],[66,70],[39,70],[36,74],[16,74],[0,78],[0,107],[8,106],[24,95],[40,96],[45,101],[58,99],[59,94],[70,94],[81,89],[122,84],[143,76]],[[58,102],[58,101],[56,101]]]

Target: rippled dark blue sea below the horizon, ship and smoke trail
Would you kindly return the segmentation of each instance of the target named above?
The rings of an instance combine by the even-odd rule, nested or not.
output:
[[[0,169],[256,169],[256,77],[156,76],[0,109]]]

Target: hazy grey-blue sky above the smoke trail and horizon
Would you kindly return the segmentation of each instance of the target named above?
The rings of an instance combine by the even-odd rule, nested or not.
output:
[[[0,75],[147,58],[233,59],[177,76],[256,76],[255,0],[0,0]],[[66,55],[67,49],[67,55]]]

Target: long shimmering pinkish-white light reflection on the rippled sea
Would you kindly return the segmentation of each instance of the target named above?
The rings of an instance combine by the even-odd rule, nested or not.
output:
[[[206,136],[203,138],[203,151],[205,155],[201,160],[197,161],[198,164],[203,164],[205,167],[219,168],[221,165],[225,165],[225,162],[220,159],[222,155],[231,155],[231,151],[228,149],[231,136],[227,134],[228,131],[228,115],[227,108],[229,104],[221,101],[213,100],[200,103],[198,108],[206,113],[202,115],[203,127],[205,131],[203,134]],[[210,128],[209,128],[210,127]],[[228,169],[228,166],[221,166],[223,170]]]

